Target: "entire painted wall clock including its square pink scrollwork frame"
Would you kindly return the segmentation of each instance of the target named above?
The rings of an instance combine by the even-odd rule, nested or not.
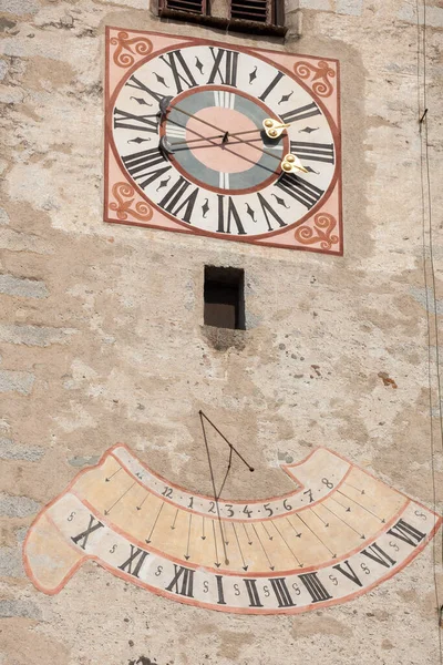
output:
[[[342,253],[338,62],[107,30],[105,221]]]

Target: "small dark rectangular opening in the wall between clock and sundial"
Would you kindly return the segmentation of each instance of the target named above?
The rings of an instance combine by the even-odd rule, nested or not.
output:
[[[206,326],[245,330],[245,272],[205,266]]]

